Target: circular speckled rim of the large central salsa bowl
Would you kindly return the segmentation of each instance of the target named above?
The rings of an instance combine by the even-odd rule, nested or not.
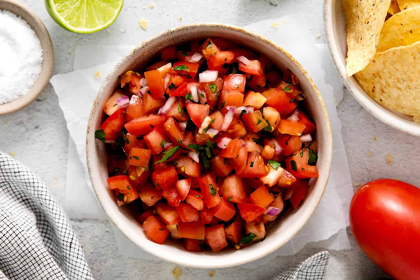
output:
[[[103,92],[105,90],[105,84],[108,80],[110,80],[113,71],[115,70],[115,68],[117,68],[121,63],[124,63],[123,61],[126,58],[129,58],[131,55],[134,55],[136,52],[140,51],[142,49],[142,47],[144,45],[150,44],[153,41],[155,41],[156,39],[158,39],[161,36],[164,36],[166,34],[171,34],[171,33],[175,33],[176,31],[179,31],[181,29],[190,29],[190,28],[223,28],[223,29],[227,29],[227,30],[232,30],[232,31],[239,31],[243,34],[246,34],[249,37],[254,37],[255,39],[259,39],[262,40],[263,42],[265,42],[265,44],[268,44],[270,47],[275,48],[276,50],[283,52],[284,55],[286,55],[286,57],[291,61],[292,64],[294,64],[297,68],[299,68],[299,71],[302,73],[302,75],[304,76],[304,78],[307,80],[307,82],[309,82],[313,93],[315,94],[316,100],[319,102],[320,107],[321,107],[321,118],[324,119],[325,121],[325,147],[326,149],[323,151],[323,156],[325,157],[325,174],[323,176],[320,176],[318,178],[318,180],[323,179],[323,182],[320,182],[320,186],[318,186],[318,188],[322,188],[322,191],[320,191],[320,194],[318,197],[316,197],[315,203],[312,207],[312,209],[310,209],[309,214],[304,217],[303,222],[296,228],[296,230],[294,231],[293,234],[291,234],[290,236],[288,236],[287,238],[285,238],[283,240],[283,242],[281,243],[277,243],[276,246],[273,246],[270,250],[266,250],[266,251],[262,251],[260,254],[256,254],[253,255],[252,257],[249,257],[245,260],[241,260],[241,261],[235,261],[233,260],[232,262],[227,262],[227,263],[223,263],[223,264],[218,264],[218,265],[210,265],[210,264],[199,264],[199,265],[192,265],[189,264],[188,262],[184,261],[183,259],[171,259],[169,257],[167,257],[164,253],[163,254],[159,254],[155,251],[149,250],[147,248],[144,248],[143,246],[141,246],[141,244],[139,242],[136,242],[135,238],[131,238],[131,236],[128,234],[128,230],[121,228],[120,226],[118,226],[118,222],[115,220],[115,217],[113,217],[113,215],[111,215],[107,210],[105,210],[107,207],[104,205],[101,197],[98,195],[97,189],[99,190],[99,188],[103,188],[103,186],[99,186],[100,184],[95,184],[95,178],[92,175],[92,168],[95,168],[94,163],[91,162],[91,160],[89,159],[89,154],[91,154],[95,148],[94,148],[94,115],[97,112],[97,106],[95,106],[95,104],[97,104],[97,102],[99,102],[100,100],[100,94],[101,92]],[[285,243],[287,243],[288,241],[291,240],[291,238],[293,238],[302,228],[303,226],[307,223],[307,221],[310,219],[310,217],[312,216],[312,214],[315,212],[315,209],[318,207],[318,204],[320,202],[320,200],[323,197],[323,194],[325,192],[325,188],[327,186],[328,183],[328,178],[331,172],[331,163],[332,163],[332,154],[333,154],[333,139],[332,139],[332,133],[331,133],[331,125],[330,125],[330,120],[329,120],[329,116],[325,107],[325,104],[323,102],[323,98],[321,96],[321,94],[318,91],[317,86],[315,85],[315,83],[312,81],[312,78],[309,76],[309,74],[307,73],[306,70],[304,70],[304,68],[302,67],[302,65],[300,65],[299,62],[297,62],[297,60],[295,58],[293,58],[288,52],[286,52],[285,50],[283,50],[283,48],[281,48],[280,46],[278,46],[277,44],[271,42],[270,40],[266,39],[265,37],[262,37],[259,34],[255,34],[252,31],[248,31],[245,29],[242,29],[238,26],[233,26],[233,25],[229,25],[229,24],[219,24],[219,23],[202,23],[202,24],[187,24],[187,25],[181,25],[172,29],[168,29],[165,31],[162,31],[158,34],[156,34],[155,36],[151,37],[150,39],[147,39],[146,41],[142,42],[142,44],[139,44],[137,47],[135,47],[133,50],[131,50],[131,52],[129,52],[123,59],[121,59],[117,65],[115,65],[115,67],[113,68],[113,71],[111,71],[110,73],[108,73],[107,77],[105,78],[104,83],[102,84],[102,86],[100,87],[97,96],[95,97],[95,101],[93,103],[92,106],[92,110],[89,114],[89,121],[88,121],[88,126],[87,126],[87,135],[86,135],[86,157],[87,157],[87,166],[88,166],[88,172],[89,172],[89,178],[91,179],[92,182],[92,187],[95,191],[95,196],[97,197],[102,209],[104,210],[105,214],[108,216],[108,218],[111,220],[111,222],[115,225],[116,228],[118,228],[118,230],[120,230],[130,241],[132,241],[133,243],[136,244],[136,246],[140,247],[142,250],[146,251],[147,253],[151,254],[152,256],[156,256],[159,259],[162,259],[164,261],[167,262],[172,262],[172,263],[176,263],[182,266],[186,266],[186,267],[198,267],[198,268],[223,268],[223,267],[233,267],[233,266],[237,266],[237,265],[241,265],[241,264],[245,264],[248,262],[252,262],[255,261],[257,259],[262,258],[263,256],[266,256],[268,254],[271,254],[273,251],[276,251],[278,248],[280,248],[281,246],[283,246]],[[92,124],[92,126],[91,126]],[[92,129],[90,129],[92,127]],[[93,157],[93,155],[92,155]],[[317,182],[318,183],[318,182]]]

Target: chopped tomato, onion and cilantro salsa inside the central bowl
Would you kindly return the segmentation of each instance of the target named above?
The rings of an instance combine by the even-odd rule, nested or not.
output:
[[[171,236],[199,252],[263,241],[318,177],[299,80],[264,55],[196,40],[119,79],[95,137],[116,203],[156,243]]]

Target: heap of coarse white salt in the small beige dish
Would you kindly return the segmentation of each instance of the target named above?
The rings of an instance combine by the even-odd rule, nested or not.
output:
[[[41,72],[42,48],[35,31],[19,16],[0,10],[0,105],[24,96]]]

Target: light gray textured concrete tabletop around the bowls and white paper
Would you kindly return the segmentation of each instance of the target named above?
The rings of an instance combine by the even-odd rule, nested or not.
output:
[[[54,73],[72,70],[72,50],[76,45],[138,44],[158,31],[180,24],[222,22],[244,26],[261,19],[278,18],[291,11],[303,10],[307,14],[304,20],[314,26],[312,34],[323,34],[323,1],[320,0],[178,0],[176,3],[163,0],[153,1],[153,9],[149,7],[150,1],[126,0],[115,23],[107,30],[95,34],[74,34],[61,29],[48,16],[43,1],[21,2],[38,13],[50,32],[55,50]],[[147,6],[145,10],[142,9],[143,5]],[[182,21],[179,17],[182,17]],[[136,27],[140,18],[148,20],[146,31]],[[120,29],[123,29],[123,32]],[[417,138],[396,131],[373,118],[347,91],[337,110],[343,126],[344,144],[355,188],[357,184],[385,177],[400,178],[408,183],[417,184],[420,174],[409,168],[413,162],[418,162],[415,152],[418,146]],[[19,112],[0,116],[0,150],[15,152],[15,157],[39,175],[60,203],[64,201],[67,144],[68,131],[63,112],[50,84],[39,95],[37,101]],[[368,156],[367,152],[371,152],[372,155]],[[392,156],[391,164],[386,162],[388,154]],[[108,222],[71,222],[96,279],[174,279],[174,264],[118,256]],[[360,251],[351,233],[347,231],[354,249],[330,251],[326,279],[360,280],[385,277],[386,275]],[[212,278],[270,279],[322,250],[307,247],[294,256],[278,257],[255,270],[235,267],[215,270]],[[210,279],[210,270],[181,267],[181,272],[182,276],[179,279],[183,280]]]

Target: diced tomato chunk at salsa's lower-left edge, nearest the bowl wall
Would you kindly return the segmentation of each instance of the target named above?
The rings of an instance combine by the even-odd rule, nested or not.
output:
[[[131,185],[127,175],[114,176],[107,179],[108,187],[115,191],[118,206],[138,199],[137,189]]]

